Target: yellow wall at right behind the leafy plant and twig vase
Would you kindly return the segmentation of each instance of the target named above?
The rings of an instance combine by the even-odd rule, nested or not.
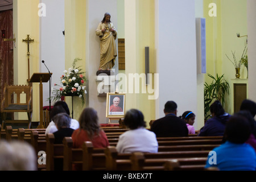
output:
[[[216,3],[217,16],[210,17],[208,15],[210,3]],[[247,35],[247,16],[246,16],[246,1],[243,0],[204,0],[204,16],[206,18],[207,30],[207,73],[211,75],[224,74],[225,79],[232,83],[233,78],[236,78],[236,72],[233,64],[228,60],[226,54],[232,59],[232,52],[236,51],[237,60],[242,55],[243,48],[246,43],[246,38],[237,38],[237,33]],[[247,71],[241,67],[241,78],[246,78]],[[205,75],[205,81],[211,79]],[[224,109],[233,114],[233,89],[230,85],[230,94],[226,96]]]

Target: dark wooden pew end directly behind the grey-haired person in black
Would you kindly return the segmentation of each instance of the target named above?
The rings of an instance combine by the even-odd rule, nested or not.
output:
[[[63,170],[64,144],[55,144],[52,133],[46,135],[46,170]]]

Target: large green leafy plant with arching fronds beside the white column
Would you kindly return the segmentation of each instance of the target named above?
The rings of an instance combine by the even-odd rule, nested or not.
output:
[[[221,101],[222,106],[225,104],[225,95],[229,94],[229,83],[225,80],[224,74],[222,76],[214,77],[208,74],[212,78],[212,82],[204,84],[204,119],[210,117],[210,105],[213,101]]]

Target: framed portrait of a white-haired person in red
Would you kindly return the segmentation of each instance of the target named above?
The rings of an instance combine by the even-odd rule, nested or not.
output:
[[[125,117],[125,94],[107,93],[106,117],[121,118]]]

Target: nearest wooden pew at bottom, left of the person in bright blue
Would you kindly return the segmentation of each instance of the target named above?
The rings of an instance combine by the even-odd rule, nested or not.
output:
[[[196,164],[197,159],[172,159],[164,163],[165,171],[219,171],[217,167],[205,168],[205,164]],[[206,161],[205,161],[206,162]]]

